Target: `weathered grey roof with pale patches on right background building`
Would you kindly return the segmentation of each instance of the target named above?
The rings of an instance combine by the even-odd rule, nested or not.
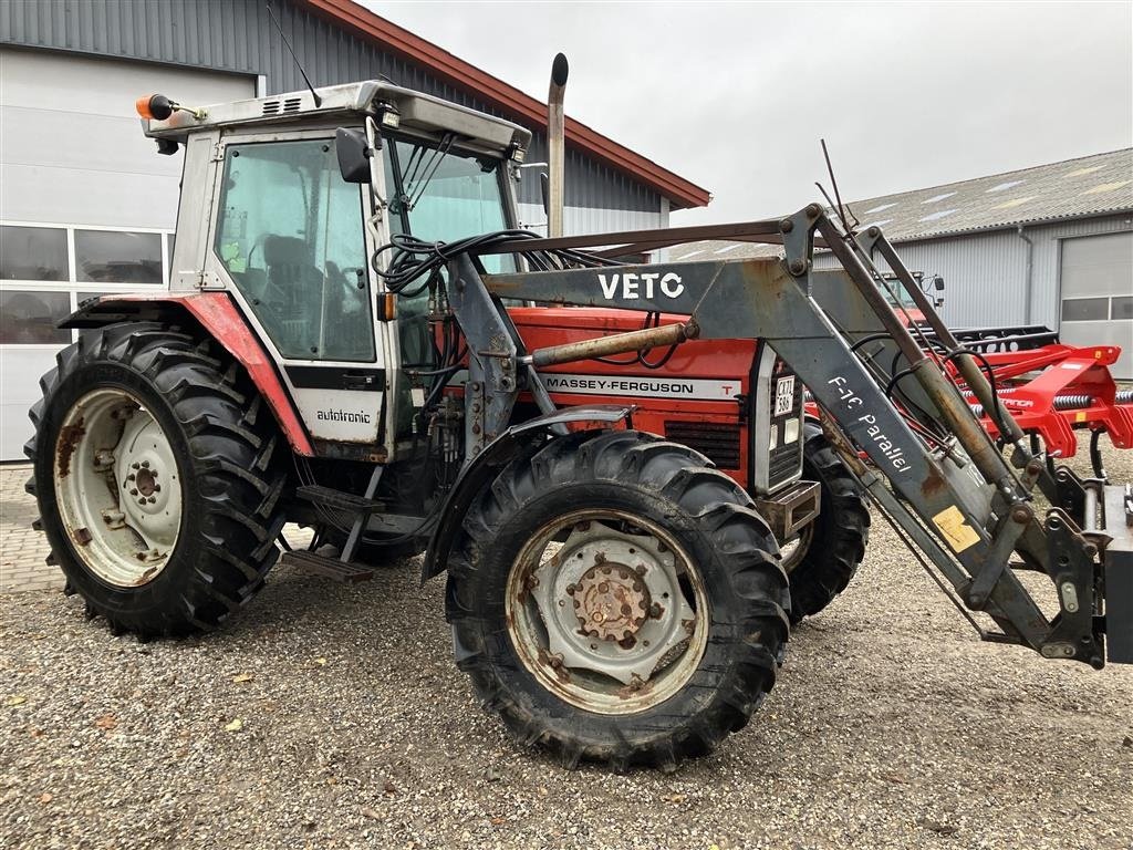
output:
[[[998,230],[1133,210],[1133,148],[851,201],[891,241]]]

